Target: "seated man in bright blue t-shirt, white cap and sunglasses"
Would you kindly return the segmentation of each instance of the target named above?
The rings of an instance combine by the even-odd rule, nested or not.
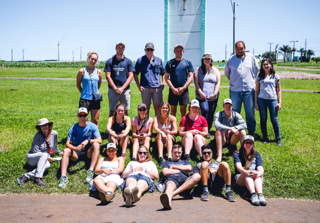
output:
[[[99,158],[102,140],[97,125],[88,122],[86,108],[79,108],[77,117],[79,122],[69,129],[66,148],[63,150],[59,188],[64,188],[69,182],[67,177],[69,159],[72,161],[91,160],[90,168],[84,180],[85,183],[88,183],[92,181],[93,169]]]

